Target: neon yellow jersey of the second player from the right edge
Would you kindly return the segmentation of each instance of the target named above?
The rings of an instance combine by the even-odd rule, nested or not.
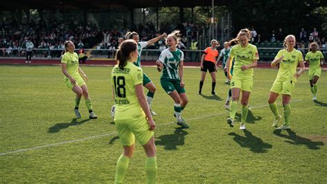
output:
[[[297,79],[293,76],[297,72],[297,64],[303,61],[301,51],[293,49],[292,52],[288,52],[286,49],[279,50],[275,59],[284,55],[283,61],[279,63],[279,70],[276,80],[293,80]]]

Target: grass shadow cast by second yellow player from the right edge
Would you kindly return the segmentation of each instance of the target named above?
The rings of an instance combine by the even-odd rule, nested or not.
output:
[[[291,129],[286,129],[288,135],[285,134],[281,134],[281,130],[280,129],[275,129],[274,134],[276,134],[277,136],[281,137],[281,138],[288,138],[289,140],[285,140],[285,142],[288,142],[292,145],[306,145],[306,147],[308,147],[308,149],[320,149],[319,146],[323,146],[324,142],[314,142],[308,138],[303,138],[301,136],[297,136],[297,134],[295,133],[295,131],[292,131]]]

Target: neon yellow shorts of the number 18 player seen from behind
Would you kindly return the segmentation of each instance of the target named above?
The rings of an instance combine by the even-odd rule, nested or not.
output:
[[[141,145],[148,143],[154,135],[153,131],[149,130],[149,125],[146,118],[135,120],[115,120],[115,126],[118,131],[121,145],[131,146],[135,143],[135,137]]]

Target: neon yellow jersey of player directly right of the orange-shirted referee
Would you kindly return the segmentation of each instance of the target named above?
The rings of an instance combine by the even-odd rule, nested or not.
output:
[[[233,46],[230,50],[230,59],[235,59],[234,71],[232,75],[239,77],[252,77],[253,68],[249,68],[245,71],[241,70],[242,66],[246,66],[248,64],[252,64],[253,60],[259,59],[259,53],[257,50],[257,46],[248,44],[248,46],[241,47],[241,44],[237,44]]]

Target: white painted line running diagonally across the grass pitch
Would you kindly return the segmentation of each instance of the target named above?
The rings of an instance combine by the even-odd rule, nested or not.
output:
[[[299,101],[304,101],[304,100],[293,100],[291,102],[299,102]],[[268,104],[262,104],[262,105],[259,105],[259,106],[256,106],[256,107],[251,107],[251,109],[257,109],[257,108],[267,107],[267,106],[268,106]],[[212,114],[209,114],[209,115],[206,115],[206,116],[199,116],[199,117],[195,117],[195,118],[188,118],[186,120],[197,120],[197,119],[201,119],[201,118],[209,118],[211,116],[222,115],[222,114],[225,114],[225,113],[228,113],[228,111],[224,111],[224,112],[221,112],[221,113],[212,113]],[[175,122],[165,122],[163,124],[157,125],[156,127],[170,125],[172,123],[175,123]],[[97,139],[97,138],[101,138],[101,137],[105,137],[105,136],[112,136],[112,135],[115,135],[115,134],[117,134],[117,132],[112,132],[112,133],[109,133],[109,134],[102,134],[102,135],[97,135],[97,136],[90,136],[90,137],[87,137],[87,138],[79,138],[79,139],[76,139],[76,140],[68,140],[68,141],[63,141],[63,142],[57,142],[57,143],[53,143],[53,144],[49,144],[49,145],[41,145],[41,146],[31,147],[31,148],[26,148],[26,149],[17,149],[17,150],[14,150],[14,151],[8,151],[8,152],[5,152],[5,153],[0,153],[0,156],[8,155],[8,154],[18,154],[18,153],[25,152],[25,151],[32,151],[32,150],[35,150],[35,149],[43,149],[43,148],[46,148],[46,147],[55,147],[55,146],[58,146],[58,145],[66,145],[66,144],[72,143],[72,142],[81,142],[81,141],[84,141],[84,140],[92,140],[92,139]]]

